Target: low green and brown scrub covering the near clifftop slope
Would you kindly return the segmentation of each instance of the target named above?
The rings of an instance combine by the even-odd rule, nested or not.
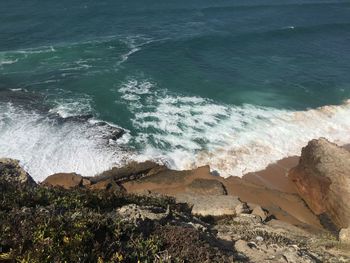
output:
[[[190,215],[172,198],[9,181],[17,173],[11,165],[0,172],[1,262],[228,261],[199,231],[179,224],[176,217]],[[174,216],[128,221],[117,209],[129,204]]]

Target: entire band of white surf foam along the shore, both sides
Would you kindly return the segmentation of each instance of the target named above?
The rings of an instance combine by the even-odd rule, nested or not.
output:
[[[66,120],[0,103],[0,157],[19,159],[39,181],[56,172],[92,176],[131,159],[174,169],[209,164],[222,176],[241,176],[300,154],[313,138],[350,142],[350,101],[306,111],[230,106],[179,96],[142,79],[130,79],[118,91],[136,136],[127,132],[115,142],[106,138],[113,124],[68,118],[93,111],[88,97],[56,99],[51,113]],[[141,152],[125,150],[129,143]]]

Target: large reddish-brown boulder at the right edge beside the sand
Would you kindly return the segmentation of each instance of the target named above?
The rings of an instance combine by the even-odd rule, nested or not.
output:
[[[327,214],[338,228],[350,224],[350,152],[326,139],[312,140],[289,177],[317,214]]]

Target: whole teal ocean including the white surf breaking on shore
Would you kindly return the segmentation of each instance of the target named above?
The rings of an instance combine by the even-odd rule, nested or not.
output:
[[[242,176],[349,143],[349,98],[349,1],[0,2],[0,157],[38,181],[149,159]]]

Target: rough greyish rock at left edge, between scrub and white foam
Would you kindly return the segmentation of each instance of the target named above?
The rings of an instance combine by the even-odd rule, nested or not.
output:
[[[33,178],[19,165],[19,161],[13,159],[0,159],[0,177],[8,182],[36,185]]]

